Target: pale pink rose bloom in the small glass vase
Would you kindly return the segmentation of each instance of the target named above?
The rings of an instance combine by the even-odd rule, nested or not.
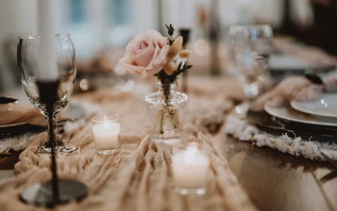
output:
[[[167,37],[156,30],[147,30],[135,35],[126,45],[124,57],[119,59],[118,65],[146,78],[164,68],[167,49]]]

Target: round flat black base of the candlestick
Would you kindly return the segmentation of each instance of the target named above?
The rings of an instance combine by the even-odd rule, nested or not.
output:
[[[64,204],[71,200],[80,201],[88,192],[88,187],[78,181],[59,180],[59,196],[58,204]],[[52,181],[36,183],[28,186],[20,194],[20,199],[28,204],[36,206],[54,206]]]

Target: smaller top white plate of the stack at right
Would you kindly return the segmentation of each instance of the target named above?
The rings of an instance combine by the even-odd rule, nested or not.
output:
[[[337,94],[324,94],[318,100],[295,101],[290,105],[301,112],[319,116],[337,117]]]

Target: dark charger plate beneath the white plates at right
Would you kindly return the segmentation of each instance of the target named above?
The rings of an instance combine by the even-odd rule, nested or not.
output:
[[[250,123],[256,125],[260,130],[275,136],[287,133],[291,138],[301,136],[304,140],[315,140],[324,142],[337,141],[337,127],[311,125],[287,121],[268,114],[265,111],[247,113]]]

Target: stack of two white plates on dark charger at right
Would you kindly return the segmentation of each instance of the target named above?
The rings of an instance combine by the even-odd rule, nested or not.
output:
[[[303,139],[337,141],[337,94],[324,94],[318,100],[292,101],[289,106],[266,105],[265,114],[250,113],[259,127],[275,135],[302,136]]]

